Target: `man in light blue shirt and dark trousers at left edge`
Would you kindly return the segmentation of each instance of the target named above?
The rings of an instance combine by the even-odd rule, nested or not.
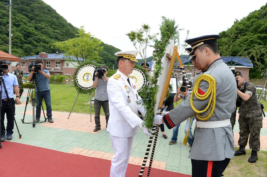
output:
[[[6,60],[0,60],[2,62],[5,62]],[[9,70],[9,64],[2,64],[2,65],[8,65],[8,69],[3,71],[3,81],[5,82],[5,86],[8,92],[8,97],[6,95],[6,92],[4,90],[4,86],[2,84],[2,107],[1,107],[1,141],[6,140],[5,133],[7,132],[7,140],[12,140],[12,134],[13,134],[13,128],[14,128],[14,114],[15,114],[15,100],[14,100],[14,92],[16,93],[16,101],[19,103],[19,90],[18,90],[18,80],[17,77],[11,73],[8,72]],[[8,98],[11,103],[12,110],[10,108]],[[13,111],[13,114],[12,112]],[[7,114],[7,129],[4,125],[4,118],[5,113]]]

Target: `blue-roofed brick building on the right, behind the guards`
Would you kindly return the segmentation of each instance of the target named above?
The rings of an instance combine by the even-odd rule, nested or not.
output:
[[[234,67],[235,71],[240,71],[244,76],[244,81],[249,81],[249,68],[253,68],[253,64],[250,61],[249,57],[221,57],[225,63],[230,67]],[[181,57],[181,61],[185,68],[187,78],[192,80],[194,75],[198,71],[193,65],[192,62],[188,62],[189,57]],[[148,62],[148,70],[151,70],[152,63]],[[173,68],[174,76],[178,78],[179,81],[182,81],[182,71],[179,69],[179,63],[174,64]],[[222,73],[223,74],[223,73]]]

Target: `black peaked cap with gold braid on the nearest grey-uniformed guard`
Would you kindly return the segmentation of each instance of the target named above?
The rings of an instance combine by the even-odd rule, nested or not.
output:
[[[196,50],[199,46],[203,44],[216,43],[216,39],[219,39],[219,38],[220,38],[220,35],[218,34],[205,35],[205,36],[200,36],[200,37],[196,37],[192,39],[187,39],[185,42],[192,47],[192,50]]]

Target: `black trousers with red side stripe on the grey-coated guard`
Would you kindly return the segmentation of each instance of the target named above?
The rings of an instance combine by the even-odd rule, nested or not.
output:
[[[191,159],[192,177],[221,177],[229,162],[228,158],[221,161]]]

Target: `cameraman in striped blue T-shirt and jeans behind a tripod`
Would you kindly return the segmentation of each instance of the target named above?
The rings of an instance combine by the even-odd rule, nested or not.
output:
[[[46,116],[50,123],[53,123],[52,119],[52,108],[51,108],[51,96],[50,96],[50,87],[49,87],[49,78],[50,73],[48,70],[43,69],[43,62],[41,60],[37,60],[35,63],[31,63],[29,65],[29,69],[31,68],[31,73],[28,76],[28,81],[31,81],[33,78],[33,74],[36,74],[36,82],[35,82],[35,95],[36,95],[36,115],[35,122],[40,121],[41,116],[41,103],[44,98],[46,105]],[[38,88],[36,84],[38,84]],[[39,95],[40,93],[40,95]],[[40,98],[40,99],[39,99]]]

